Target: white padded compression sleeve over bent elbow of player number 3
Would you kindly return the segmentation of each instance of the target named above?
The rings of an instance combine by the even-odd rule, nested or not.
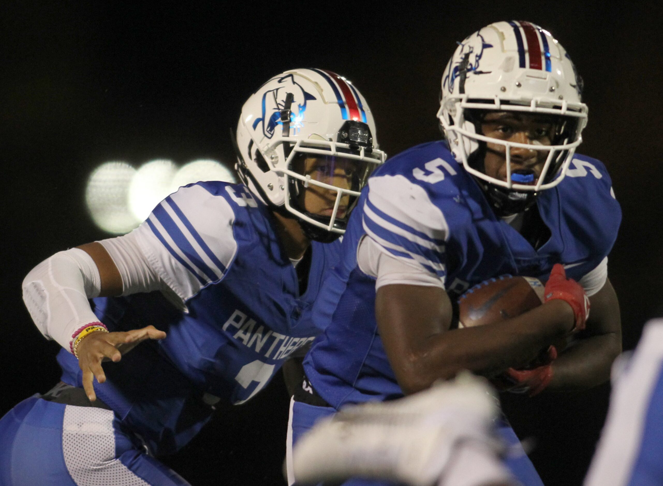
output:
[[[92,257],[72,248],[34,267],[23,280],[23,302],[38,330],[70,351],[72,334],[97,322],[88,298],[99,296],[101,277]]]

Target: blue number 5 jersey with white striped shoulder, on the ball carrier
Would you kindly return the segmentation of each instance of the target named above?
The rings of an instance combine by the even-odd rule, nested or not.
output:
[[[324,333],[304,362],[314,389],[335,408],[402,396],[377,329],[375,278],[357,265],[366,235],[379,251],[440,278],[452,299],[502,274],[545,281],[555,263],[579,280],[607,256],[621,210],[601,162],[575,155],[566,178],[542,191],[536,206],[551,233],[538,249],[495,215],[442,141],[402,152],[376,170],[351,215],[341,263],[316,302],[314,319]]]

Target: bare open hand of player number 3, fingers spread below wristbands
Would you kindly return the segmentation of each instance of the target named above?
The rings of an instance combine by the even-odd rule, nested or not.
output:
[[[86,395],[93,402],[97,399],[94,393],[94,379],[99,383],[106,381],[101,361],[119,361],[122,355],[128,353],[145,339],[163,339],[166,333],[147,326],[128,332],[93,332],[82,338],[78,343],[78,366],[83,371],[83,388]]]

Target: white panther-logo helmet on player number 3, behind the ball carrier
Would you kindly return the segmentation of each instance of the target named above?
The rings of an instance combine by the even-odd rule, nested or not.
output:
[[[236,149],[242,181],[265,204],[297,217],[304,232],[318,241],[330,241],[345,232],[361,188],[386,158],[378,149],[373,115],[359,90],[345,78],[321,69],[283,72],[253,93],[237,124]],[[316,180],[296,170],[293,162],[302,153],[324,159],[328,174],[339,168],[337,158],[346,167],[350,162],[349,188],[333,185],[332,178]],[[301,207],[298,195],[310,185],[335,191],[331,215],[316,215]],[[350,202],[339,211],[345,195]]]

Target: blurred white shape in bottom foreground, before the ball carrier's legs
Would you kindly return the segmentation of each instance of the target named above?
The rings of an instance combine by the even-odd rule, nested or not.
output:
[[[349,477],[415,486],[514,485],[494,435],[497,400],[485,379],[461,373],[415,395],[347,406],[296,444],[298,484]]]

